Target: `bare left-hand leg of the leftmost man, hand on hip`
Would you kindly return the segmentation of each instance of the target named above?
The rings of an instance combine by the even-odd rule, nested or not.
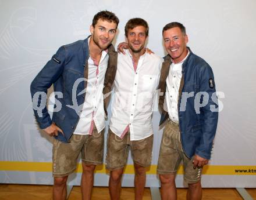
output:
[[[54,200],[66,200],[67,198],[67,176],[54,177],[54,188],[52,191]]]

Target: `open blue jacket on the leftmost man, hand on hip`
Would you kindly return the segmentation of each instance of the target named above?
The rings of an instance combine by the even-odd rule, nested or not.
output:
[[[112,45],[108,47],[108,54],[109,61],[104,81],[106,87],[104,94],[111,90],[113,77],[115,77],[116,73],[117,52],[115,52],[115,48]],[[55,93],[55,104],[61,105],[61,110],[54,112],[52,119],[46,107],[45,95],[35,95],[33,98],[34,114],[40,128],[45,129],[54,122],[65,134],[65,136],[58,134],[56,139],[63,142],[69,141],[80,118],[72,106],[75,106],[73,104],[74,101],[77,102],[78,106],[84,103],[86,92],[84,93],[83,90],[87,86],[87,81],[79,82],[76,94],[73,94],[73,96],[72,88],[79,78],[88,78],[88,56],[88,38],[61,46],[56,54],[52,56],[52,59],[48,61],[34,78],[30,86],[32,98],[37,92],[45,93],[46,95],[47,89],[52,84],[54,84],[54,92],[61,92],[63,94]],[[105,112],[108,99],[109,96],[104,99]],[[41,108],[38,109],[37,107]]]

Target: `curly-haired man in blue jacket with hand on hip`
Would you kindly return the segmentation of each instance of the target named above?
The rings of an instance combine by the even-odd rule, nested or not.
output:
[[[66,199],[66,181],[81,152],[83,199],[91,199],[94,169],[103,162],[106,103],[116,73],[117,53],[111,42],[119,19],[114,13],[95,14],[91,36],[64,45],[31,83],[33,109],[41,129],[54,136],[54,199]],[[46,102],[54,85],[52,119]],[[105,88],[104,88],[105,86]],[[102,93],[104,88],[104,92]]]

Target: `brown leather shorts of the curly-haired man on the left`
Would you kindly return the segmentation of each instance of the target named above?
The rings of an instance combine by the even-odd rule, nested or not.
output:
[[[87,165],[101,165],[104,151],[104,130],[98,133],[94,127],[92,135],[73,134],[69,143],[54,140],[52,149],[52,174],[67,176],[76,170],[77,158]]]

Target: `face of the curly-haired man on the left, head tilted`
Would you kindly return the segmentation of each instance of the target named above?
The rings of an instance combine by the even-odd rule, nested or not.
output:
[[[90,27],[91,38],[93,38],[95,45],[101,50],[108,48],[116,35],[116,28],[117,24],[115,22],[99,19],[95,27]]]

